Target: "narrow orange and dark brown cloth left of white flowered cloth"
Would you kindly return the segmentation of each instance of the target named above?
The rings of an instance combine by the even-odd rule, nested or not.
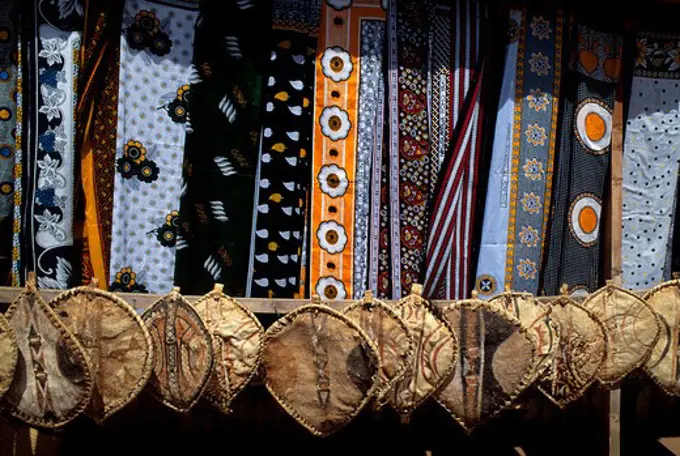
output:
[[[86,3],[80,93],[76,116],[80,175],[85,202],[83,282],[110,283],[113,185],[116,171],[120,18],[123,3]]]

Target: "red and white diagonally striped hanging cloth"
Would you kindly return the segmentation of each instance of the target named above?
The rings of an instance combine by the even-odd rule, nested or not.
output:
[[[463,299],[469,293],[477,168],[481,146],[479,65],[480,26],[485,8],[459,0],[451,17],[451,121],[453,140],[446,151],[433,201],[428,239],[425,293]]]

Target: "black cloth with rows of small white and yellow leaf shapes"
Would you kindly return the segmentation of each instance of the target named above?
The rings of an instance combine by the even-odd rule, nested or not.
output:
[[[274,2],[246,296],[292,298],[301,282],[312,152],[318,0]]]

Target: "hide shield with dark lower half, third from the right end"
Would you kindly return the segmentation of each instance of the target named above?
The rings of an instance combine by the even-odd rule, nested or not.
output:
[[[560,355],[553,358],[539,389],[564,408],[596,380],[607,353],[607,336],[592,312],[567,297],[551,303],[550,319],[560,328]]]

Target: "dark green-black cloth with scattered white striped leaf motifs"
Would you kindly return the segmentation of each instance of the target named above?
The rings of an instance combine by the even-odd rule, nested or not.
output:
[[[177,225],[175,282],[184,293],[203,294],[219,282],[231,296],[246,294],[260,75],[271,42],[271,22],[264,18],[270,13],[261,1],[201,3],[188,100],[186,192]]]

